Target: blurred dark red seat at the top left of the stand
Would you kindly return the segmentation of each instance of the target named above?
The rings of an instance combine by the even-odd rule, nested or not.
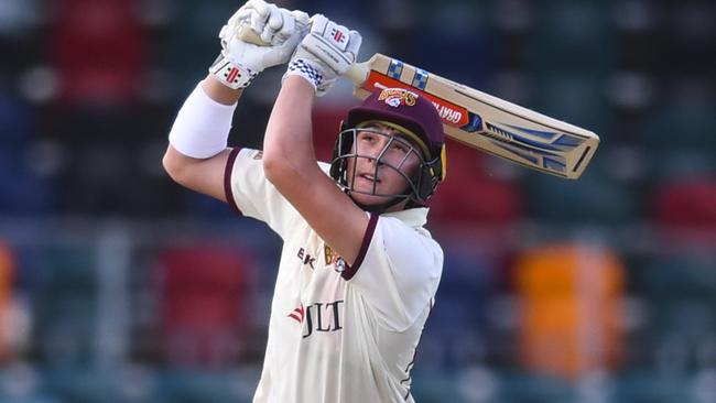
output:
[[[51,34],[61,98],[78,104],[133,100],[141,89],[144,36],[135,1],[62,0]]]

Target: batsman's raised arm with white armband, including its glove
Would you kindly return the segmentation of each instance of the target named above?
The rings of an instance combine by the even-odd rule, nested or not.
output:
[[[289,59],[307,23],[303,12],[250,0],[221,28],[221,53],[182,106],[170,132],[162,164],[175,182],[226,202],[227,140],[237,101],[260,72]],[[241,41],[239,30],[247,26],[267,46]]]

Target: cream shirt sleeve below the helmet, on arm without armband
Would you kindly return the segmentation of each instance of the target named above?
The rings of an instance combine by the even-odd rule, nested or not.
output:
[[[357,287],[391,329],[412,326],[435,296],[443,250],[420,229],[373,215],[364,247],[344,279]]]

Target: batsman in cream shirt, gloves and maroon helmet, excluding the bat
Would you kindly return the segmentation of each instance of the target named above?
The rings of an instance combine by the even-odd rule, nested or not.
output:
[[[241,41],[246,29],[265,45]],[[163,165],[283,240],[253,402],[413,402],[411,369],[443,268],[423,228],[424,203],[445,177],[436,109],[404,89],[375,94],[348,110],[333,160],[317,162],[314,101],[356,61],[360,34],[249,0],[219,37],[220,55],[178,111]],[[263,150],[228,148],[242,91],[286,63]]]

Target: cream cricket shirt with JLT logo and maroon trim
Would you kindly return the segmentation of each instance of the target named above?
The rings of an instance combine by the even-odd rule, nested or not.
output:
[[[253,402],[413,402],[410,370],[443,268],[427,209],[372,215],[347,266],[265,179],[259,151],[234,150],[225,188],[284,242]]]

